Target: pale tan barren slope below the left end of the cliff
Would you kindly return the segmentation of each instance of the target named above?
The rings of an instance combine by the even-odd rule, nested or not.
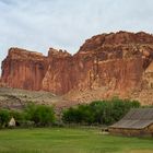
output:
[[[50,92],[35,92],[11,87],[0,87],[0,107],[21,109],[30,102],[36,104],[55,105],[62,102],[62,97]]]

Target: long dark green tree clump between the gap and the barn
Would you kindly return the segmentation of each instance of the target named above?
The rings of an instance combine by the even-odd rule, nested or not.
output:
[[[95,101],[91,104],[68,108],[62,114],[62,120],[66,123],[108,126],[121,119],[130,108],[138,107],[140,107],[138,101],[119,98]]]

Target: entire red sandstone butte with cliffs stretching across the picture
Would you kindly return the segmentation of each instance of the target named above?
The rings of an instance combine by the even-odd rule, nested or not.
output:
[[[73,56],[54,48],[48,56],[10,48],[2,61],[1,84],[49,91],[80,103],[118,95],[153,104],[153,35],[96,35]]]

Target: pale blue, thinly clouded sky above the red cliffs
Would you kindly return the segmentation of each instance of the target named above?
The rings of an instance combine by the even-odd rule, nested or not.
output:
[[[93,35],[153,33],[153,0],[0,0],[0,61],[10,47],[71,54]]]

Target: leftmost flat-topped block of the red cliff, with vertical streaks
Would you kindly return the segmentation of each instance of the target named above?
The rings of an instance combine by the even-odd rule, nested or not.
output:
[[[42,54],[10,48],[2,62],[2,82],[16,89],[42,90],[47,67],[46,57]]]

